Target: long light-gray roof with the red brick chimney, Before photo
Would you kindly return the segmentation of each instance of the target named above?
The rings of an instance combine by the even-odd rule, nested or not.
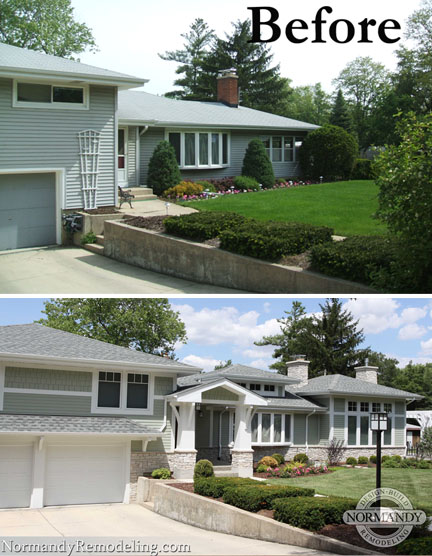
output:
[[[208,126],[241,129],[311,131],[319,126],[251,108],[232,108],[220,102],[173,100],[141,91],[119,94],[119,119],[129,123],[165,126]]]

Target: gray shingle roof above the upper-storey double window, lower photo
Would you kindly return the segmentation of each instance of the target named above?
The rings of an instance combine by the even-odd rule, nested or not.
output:
[[[196,372],[197,367],[179,363],[166,357],[150,355],[133,349],[85,338],[42,324],[0,326],[1,354],[41,356],[75,361],[107,363],[135,363],[164,367],[173,371]]]

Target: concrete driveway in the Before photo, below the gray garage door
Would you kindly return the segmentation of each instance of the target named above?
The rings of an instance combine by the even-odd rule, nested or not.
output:
[[[0,252],[0,294],[213,294],[239,290],[198,284],[95,255],[80,247]]]

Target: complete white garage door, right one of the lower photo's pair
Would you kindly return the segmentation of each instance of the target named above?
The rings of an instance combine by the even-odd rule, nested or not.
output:
[[[48,446],[45,506],[123,502],[123,445]]]

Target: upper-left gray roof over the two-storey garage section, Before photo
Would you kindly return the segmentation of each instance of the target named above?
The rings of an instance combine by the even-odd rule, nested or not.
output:
[[[51,56],[4,43],[0,43],[0,70],[10,70],[20,74],[31,72],[68,77],[83,76],[89,79],[130,83],[134,87],[148,81],[125,73],[89,66],[59,56]]]

